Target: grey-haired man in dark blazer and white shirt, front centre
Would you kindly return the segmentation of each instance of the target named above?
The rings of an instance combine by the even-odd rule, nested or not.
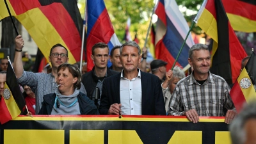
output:
[[[120,48],[124,70],[104,80],[101,115],[166,115],[159,78],[138,68],[140,52],[136,42],[126,42]]]

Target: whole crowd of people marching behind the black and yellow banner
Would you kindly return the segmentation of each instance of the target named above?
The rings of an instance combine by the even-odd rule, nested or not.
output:
[[[33,115],[172,115],[186,116],[193,123],[199,122],[199,116],[225,116],[227,124],[237,115],[230,86],[209,71],[211,55],[204,44],[189,49],[193,70],[188,76],[180,67],[166,70],[163,60],[150,63],[150,74],[145,66],[147,49],[141,54],[133,41],[114,47],[110,56],[107,44],[93,45],[94,67],[87,72],[84,63],[83,73],[68,63],[68,51],[61,44],[53,45],[49,53],[49,74],[26,71],[23,47],[24,40],[18,35],[13,68]],[[109,58],[111,67],[107,67]],[[2,59],[1,95],[7,65],[8,59]]]

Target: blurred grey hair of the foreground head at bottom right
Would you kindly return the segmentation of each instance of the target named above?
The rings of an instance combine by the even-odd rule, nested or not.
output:
[[[252,118],[256,119],[256,100],[252,100],[229,125],[232,144],[243,144],[246,141],[244,124]]]

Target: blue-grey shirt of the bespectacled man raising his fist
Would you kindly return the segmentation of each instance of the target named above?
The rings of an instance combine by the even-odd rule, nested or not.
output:
[[[18,83],[21,85],[28,85],[30,88],[35,90],[36,95],[36,114],[42,108],[42,102],[44,101],[44,95],[49,93],[54,93],[57,90],[57,83],[55,82],[54,76],[52,74],[45,73],[34,73],[26,72],[23,70],[22,76],[17,79]],[[83,83],[81,83],[80,92],[86,94]]]

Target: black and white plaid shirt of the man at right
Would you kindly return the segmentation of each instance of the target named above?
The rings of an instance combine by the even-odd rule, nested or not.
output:
[[[182,115],[184,111],[195,109],[199,116],[225,116],[227,109],[235,109],[226,81],[210,72],[208,74],[202,85],[195,80],[193,73],[177,83],[168,115]]]

